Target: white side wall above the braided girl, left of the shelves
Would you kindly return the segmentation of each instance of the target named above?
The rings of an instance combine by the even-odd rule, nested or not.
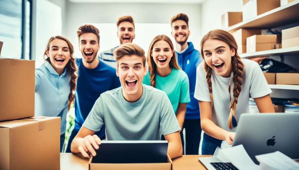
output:
[[[221,29],[221,15],[226,12],[242,12],[242,7],[242,0],[207,0],[202,3],[201,35],[213,29]]]

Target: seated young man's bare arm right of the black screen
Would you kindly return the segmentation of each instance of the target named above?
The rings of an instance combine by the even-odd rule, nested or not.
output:
[[[181,141],[180,132],[170,133],[168,135],[164,135],[165,139],[168,141],[168,149],[167,154],[171,159],[176,157],[181,157],[183,154],[183,147]]]

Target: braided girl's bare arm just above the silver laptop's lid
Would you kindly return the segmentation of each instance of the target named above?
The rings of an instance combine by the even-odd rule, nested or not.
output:
[[[275,113],[269,94],[263,97],[254,98],[254,101],[257,104],[260,113]]]

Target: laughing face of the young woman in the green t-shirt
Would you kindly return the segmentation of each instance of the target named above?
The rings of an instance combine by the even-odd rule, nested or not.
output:
[[[158,68],[167,68],[173,56],[173,50],[169,43],[160,40],[153,45],[151,56]]]

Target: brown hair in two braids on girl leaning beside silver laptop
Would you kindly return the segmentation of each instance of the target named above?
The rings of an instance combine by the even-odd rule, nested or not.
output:
[[[232,118],[233,118],[233,116],[235,117],[235,111],[236,111],[236,105],[238,103],[238,97],[242,90],[242,77],[243,77],[243,71],[244,71],[244,64],[243,64],[240,56],[237,53],[238,46],[237,46],[236,40],[230,33],[223,31],[221,29],[212,30],[212,31],[208,32],[206,35],[204,35],[204,37],[202,38],[202,40],[200,42],[200,46],[201,46],[201,55],[202,55],[203,60],[205,60],[204,53],[203,53],[203,44],[208,39],[216,39],[216,40],[223,41],[226,44],[228,44],[228,46],[231,49],[234,48],[236,51],[235,55],[231,59],[232,72],[234,73],[234,75],[232,77],[233,82],[234,82],[234,88],[233,88],[234,99],[232,101],[231,101],[231,81],[228,85],[229,98],[231,101],[231,104],[229,107],[231,112],[228,116],[228,127],[230,129],[233,129],[234,127],[232,124]],[[210,68],[206,63],[204,63],[204,67],[205,67],[205,71],[206,71],[206,79],[208,82],[210,98],[211,98],[211,102],[213,105],[212,80],[211,80],[212,68]]]

